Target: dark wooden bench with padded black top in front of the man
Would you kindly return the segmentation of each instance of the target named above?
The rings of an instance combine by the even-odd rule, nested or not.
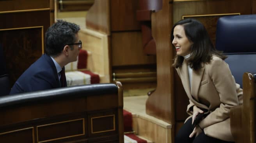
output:
[[[123,143],[123,89],[91,84],[0,97],[0,143]]]

